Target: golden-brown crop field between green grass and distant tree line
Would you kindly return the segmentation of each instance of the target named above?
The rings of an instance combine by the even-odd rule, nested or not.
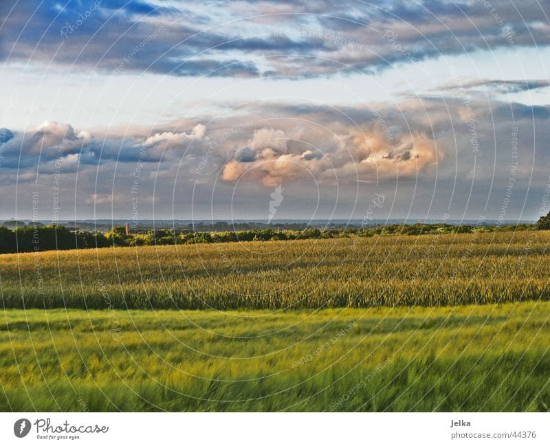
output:
[[[550,233],[212,243],[0,256],[5,308],[286,309],[548,300]]]

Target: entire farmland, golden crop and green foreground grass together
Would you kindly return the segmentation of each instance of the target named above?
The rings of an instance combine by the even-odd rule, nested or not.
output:
[[[0,256],[0,410],[548,411],[548,238]]]

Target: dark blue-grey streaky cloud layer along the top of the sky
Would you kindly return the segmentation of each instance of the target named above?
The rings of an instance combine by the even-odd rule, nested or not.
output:
[[[60,10],[54,2],[18,1],[0,12],[0,58],[110,73],[118,67],[171,76],[329,76],[550,44],[537,0],[207,4],[191,12],[147,1],[103,2],[76,27],[83,3],[69,1]],[[67,24],[75,29],[63,38]]]

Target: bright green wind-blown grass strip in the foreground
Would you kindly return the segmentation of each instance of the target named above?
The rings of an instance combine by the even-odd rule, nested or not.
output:
[[[547,411],[550,302],[6,309],[2,411]]]

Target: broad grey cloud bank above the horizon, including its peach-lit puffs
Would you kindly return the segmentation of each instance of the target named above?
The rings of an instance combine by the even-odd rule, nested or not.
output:
[[[1,153],[0,193],[8,200],[4,208],[12,209],[17,184],[17,209],[24,214],[38,184],[47,210],[55,175],[60,175],[56,172],[61,172],[60,200],[73,216],[76,203],[79,215],[95,210],[110,216],[112,207],[115,215],[131,218],[135,198],[142,218],[151,218],[153,209],[157,218],[173,212],[190,218],[190,206],[208,203],[204,212],[210,212],[212,199],[215,212],[225,210],[225,216],[232,197],[248,208],[261,208],[272,188],[283,184],[285,203],[295,203],[293,215],[299,218],[300,203],[317,194],[322,210],[331,209],[330,198],[337,192],[340,201],[353,205],[360,185],[367,188],[360,197],[369,197],[373,188],[388,197],[397,194],[399,218],[413,200],[415,209],[428,209],[432,194],[435,208],[446,209],[452,197],[451,208],[461,212],[472,197],[472,216],[485,212],[491,190],[484,214],[489,216],[500,210],[513,168],[516,183],[508,215],[524,209],[525,202],[525,212],[534,218],[548,179],[550,151],[544,142],[550,140],[550,107],[487,102],[481,96],[469,103],[478,147],[459,98],[353,107],[252,102],[228,115],[201,115],[153,128],[87,131],[47,122],[25,131],[10,129],[14,136]],[[208,132],[202,122],[208,122]],[[239,126],[242,122],[250,125]],[[181,141],[184,150],[164,150],[167,144],[181,147]]]

